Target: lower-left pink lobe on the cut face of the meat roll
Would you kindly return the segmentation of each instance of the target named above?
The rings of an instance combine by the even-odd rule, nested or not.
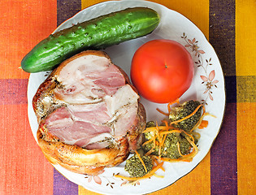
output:
[[[106,106],[102,104],[59,107],[48,115],[44,125],[60,141],[86,148],[92,140],[102,141],[111,137],[111,128],[106,125],[111,117],[106,114]],[[104,134],[102,140],[95,139],[98,134]]]

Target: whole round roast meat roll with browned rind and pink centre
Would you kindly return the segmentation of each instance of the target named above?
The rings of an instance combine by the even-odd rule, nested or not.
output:
[[[88,50],[59,65],[33,98],[37,139],[51,163],[95,175],[137,150],[145,109],[122,69]]]

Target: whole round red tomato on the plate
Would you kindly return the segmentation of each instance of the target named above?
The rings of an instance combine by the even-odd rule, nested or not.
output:
[[[183,45],[171,40],[146,42],[132,58],[131,79],[142,97],[168,103],[189,89],[193,59]]]

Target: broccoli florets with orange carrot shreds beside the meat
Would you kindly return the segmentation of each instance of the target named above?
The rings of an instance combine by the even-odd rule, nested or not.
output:
[[[155,171],[163,168],[163,162],[191,162],[197,154],[197,141],[200,138],[197,128],[206,128],[204,116],[206,113],[204,105],[198,101],[190,100],[179,106],[172,107],[174,103],[179,103],[179,99],[168,104],[168,113],[158,110],[168,119],[163,119],[163,124],[159,125],[150,121],[147,123],[144,134],[144,143],[141,150],[128,158],[125,171],[130,177],[116,177],[126,180],[128,184],[137,184],[139,180],[144,180],[151,176],[158,176]],[[214,115],[211,115],[215,117]]]

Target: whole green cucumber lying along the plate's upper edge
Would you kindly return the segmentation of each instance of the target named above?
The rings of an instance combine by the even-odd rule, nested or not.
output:
[[[142,37],[158,26],[159,15],[146,7],[128,8],[76,24],[39,42],[21,61],[25,72],[51,71],[82,50],[102,50]]]

